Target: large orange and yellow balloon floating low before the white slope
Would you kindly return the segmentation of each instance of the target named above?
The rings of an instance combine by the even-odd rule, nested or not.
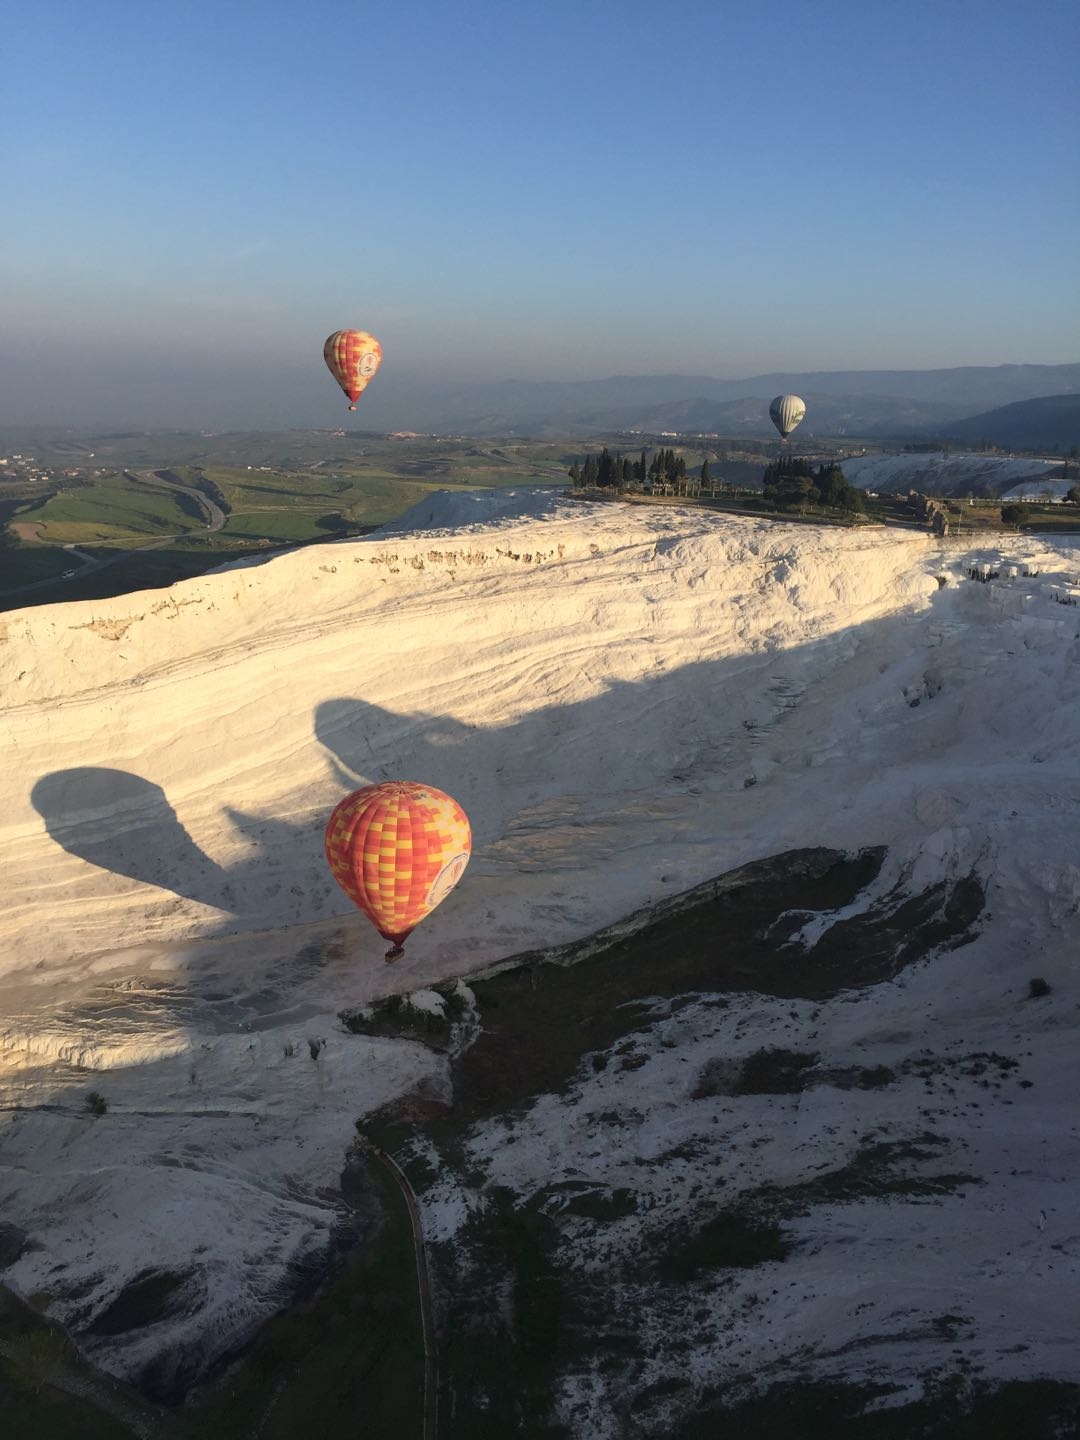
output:
[[[334,880],[392,942],[386,959],[396,960],[465,873],[472,831],[442,791],[386,780],[346,795],[327,824],[325,848]]]

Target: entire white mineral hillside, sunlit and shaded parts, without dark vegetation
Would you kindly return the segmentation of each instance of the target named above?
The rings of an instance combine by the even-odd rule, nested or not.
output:
[[[602,1060],[586,1045],[513,1113],[474,1113],[429,1152],[429,1237],[465,1284],[474,1212],[533,1215],[579,1181],[644,1197],[599,1218],[582,1201],[552,1233],[559,1273],[608,1266],[621,1287],[622,1361],[569,1332],[552,1351],[544,1404],[573,1434],[624,1433],[618,1387],[644,1397],[625,1433],[660,1436],[749,1374],[873,1377],[896,1403],[932,1372],[1080,1380],[1077,547],[550,490],[454,503],[426,500],[423,528],[3,616],[3,1283],[108,1372],[181,1394],[328,1261],[357,1119],[459,1083],[451,1053],[340,1012],[770,857],[873,851],[814,894],[789,890],[804,861],[773,861],[785,913],[730,946],[716,932],[740,976],[698,975],[677,1004],[642,979],[631,1050],[599,1037]],[[475,835],[395,968],[321,841],[344,791],[387,776],[449,791]],[[884,968],[785,989],[837,924]],[[690,945],[670,936],[667,968]],[[778,1045],[815,1057],[814,1083],[740,1089],[720,1066],[694,1100],[710,1064]],[[883,1086],[835,1083],[877,1067]],[[814,1189],[864,1175],[873,1145],[870,1189]],[[783,1256],[635,1277],[655,1227],[688,1238],[720,1214],[721,1179],[740,1233],[766,1201],[783,1214]]]

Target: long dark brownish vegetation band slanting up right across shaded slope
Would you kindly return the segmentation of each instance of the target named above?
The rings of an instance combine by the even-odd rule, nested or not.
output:
[[[809,952],[778,943],[785,937],[778,917],[791,917],[793,933],[808,916],[851,904],[883,860],[883,850],[789,851],[670,901],[629,936],[567,948],[563,963],[524,956],[469,981],[484,1030],[455,1063],[455,1119],[563,1089],[586,1051],[609,1050],[652,1024],[654,1015],[632,1004],[642,995],[753,989],[825,999],[890,979],[936,946],[971,937],[984,896],[978,881],[960,880],[910,899],[891,896],[865,917],[831,926]],[[586,958],[573,963],[575,950]]]

